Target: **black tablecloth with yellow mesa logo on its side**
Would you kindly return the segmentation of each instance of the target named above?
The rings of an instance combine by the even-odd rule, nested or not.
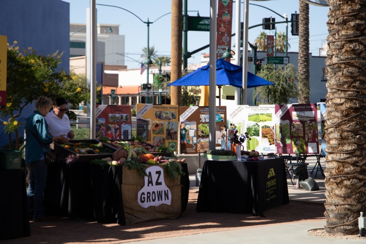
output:
[[[263,211],[289,203],[283,159],[205,161],[197,211],[263,216]]]

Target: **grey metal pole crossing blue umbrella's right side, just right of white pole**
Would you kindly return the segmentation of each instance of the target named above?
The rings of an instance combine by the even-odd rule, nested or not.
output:
[[[249,0],[244,0],[244,25],[243,25],[243,95],[242,104],[247,104],[248,82],[248,23],[249,23]]]

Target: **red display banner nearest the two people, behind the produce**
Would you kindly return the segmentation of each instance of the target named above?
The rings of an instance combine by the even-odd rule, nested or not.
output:
[[[96,138],[131,139],[130,105],[97,105]]]

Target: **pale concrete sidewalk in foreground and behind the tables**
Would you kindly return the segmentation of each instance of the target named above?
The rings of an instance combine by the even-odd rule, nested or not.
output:
[[[306,160],[308,165],[309,173],[313,169],[316,160]],[[323,169],[325,168],[324,158],[321,161]],[[324,187],[324,176],[318,171],[315,177],[315,170],[313,174],[310,174],[317,184],[319,185],[318,191],[306,191],[305,189],[296,189],[296,181],[292,185],[291,180],[287,177],[288,195],[290,200],[298,200],[303,202],[311,202],[315,204],[325,203],[325,187]],[[195,183],[195,175],[190,175],[190,191],[197,191]],[[136,241],[134,243],[151,243],[151,244],[277,244],[277,243],[296,243],[296,244],[348,244],[348,243],[365,243],[365,240],[347,240],[347,239],[333,239],[320,236],[314,236],[308,233],[308,230],[324,228],[326,221],[313,221],[313,222],[299,222],[294,224],[278,224],[268,225],[256,228],[245,228],[228,230],[221,232],[202,233],[188,236],[169,237],[164,239],[147,240],[147,241]]]

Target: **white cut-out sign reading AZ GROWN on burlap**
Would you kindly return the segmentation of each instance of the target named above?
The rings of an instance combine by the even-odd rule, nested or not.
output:
[[[143,208],[159,206],[160,204],[170,205],[172,194],[165,185],[164,170],[159,166],[151,166],[146,169],[147,176],[144,177],[145,186],[138,192],[137,202]]]

